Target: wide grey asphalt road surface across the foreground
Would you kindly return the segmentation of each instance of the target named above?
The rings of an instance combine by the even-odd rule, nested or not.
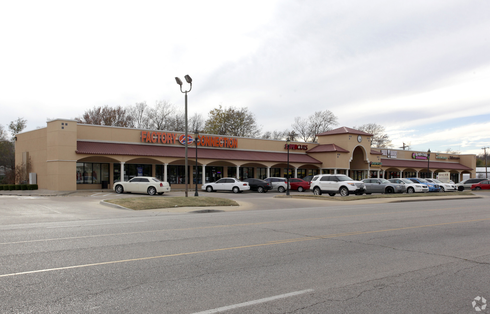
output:
[[[0,313],[474,313],[490,300],[489,199],[167,215],[87,199],[0,198]]]

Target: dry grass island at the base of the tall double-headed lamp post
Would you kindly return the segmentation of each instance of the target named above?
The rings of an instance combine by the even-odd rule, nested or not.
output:
[[[208,206],[238,206],[238,203],[227,198],[220,197],[132,197],[119,198],[113,200],[105,200],[104,202],[121,205],[125,208],[140,210],[140,209],[156,209],[156,208],[172,208],[172,207],[208,207]]]

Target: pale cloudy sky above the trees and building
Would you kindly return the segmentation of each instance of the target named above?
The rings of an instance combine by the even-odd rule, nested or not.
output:
[[[329,109],[395,147],[490,144],[490,2],[2,1],[0,124],[95,105],[247,106],[264,131]],[[185,85],[184,85],[185,86]]]

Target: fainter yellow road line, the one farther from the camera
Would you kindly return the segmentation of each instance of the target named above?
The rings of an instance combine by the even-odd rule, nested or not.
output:
[[[466,209],[481,206],[468,206],[468,207],[453,207],[453,208],[441,208],[441,209],[419,209],[419,210],[406,210],[406,211],[392,211],[392,212],[378,212],[370,214],[359,214],[359,215],[346,215],[346,216],[331,216],[331,217],[319,217],[319,218],[304,218],[304,219],[292,219],[292,220],[277,220],[277,221],[266,221],[266,222],[255,222],[246,224],[234,224],[234,225],[219,225],[219,226],[207,226],[207,227],[192,227],[192,228],[180,228],[180,229],[163,229],[163,230],[150,230],[150,231],[138,231],[138,232],[125,232],[119,234],[106,234],[106,235],[83,235],[83,236],[72,236],[72,237],[59,237],[41,240],[27,240],[27,241],[17,241],[17,242],[4,242],[2,244],[15,244],[15,243],[27,243],[27,242],[40,242],[40,241],[53,241],[53,240],[68,240],[68,239],[78,239],[85,237],[96,237],[96,236],[111,236],[111,235],[135,235],[135,234],[145,234],[153,232],[164,232],[164,231],[182,231],[182,230],[198,230],[198,229],[211,229],[211,228],[223,228],[223,227],[240,227],[240,226],[251,226],[251,225],[263,225],[271,223],[281,223],[281,222],[293,222],[293,221],[305,221],[305,220],[318,220],[318,219],[328,219],[328,218],[344,218],[344,217],[357,217],[357,216],[371,216],[371,215],[383,215],[383,214],[397,214],[405,212],[417,212],[417,211],[431,211],[431,210],[447,210],[447,209]]]

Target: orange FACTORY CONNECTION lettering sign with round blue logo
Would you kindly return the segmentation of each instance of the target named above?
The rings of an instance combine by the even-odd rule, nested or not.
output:
[[[141,141],[145,143],[162,143],[162,144],[181,143],[185,145],[185,134],[181,134],[180,136],[177,136],[177,133],[141,131]],[[194,142],[194,137],[191,134],[188,134],[188,141],[189,141],[188,144],[192,144]],[[237,148],[238,139],[234,137],[200,135],[197,138],[197,145]]]

